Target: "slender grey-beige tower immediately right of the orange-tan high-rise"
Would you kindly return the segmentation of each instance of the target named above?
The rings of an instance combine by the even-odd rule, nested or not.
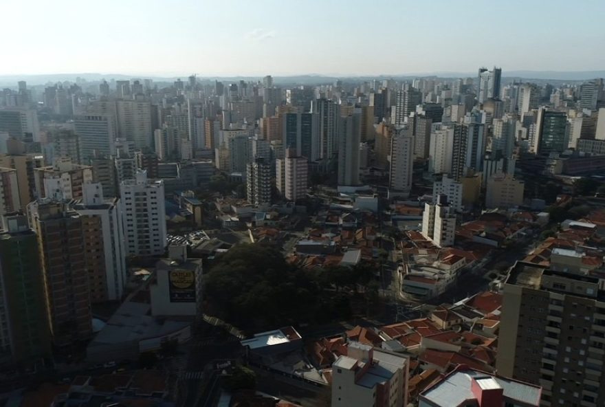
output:
[[[409,194],[412,190],[414,141],[412,135],[406,135],[403,132],[391,139],[391,153],[388,156],[391,164],[388,175],[390,190],[404,194]]]

